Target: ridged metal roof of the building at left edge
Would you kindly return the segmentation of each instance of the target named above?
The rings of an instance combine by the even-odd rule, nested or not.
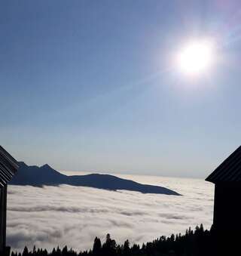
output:
[[[4,187],[11,180],[17,168],[17,160],[0,146],[0,187]]]

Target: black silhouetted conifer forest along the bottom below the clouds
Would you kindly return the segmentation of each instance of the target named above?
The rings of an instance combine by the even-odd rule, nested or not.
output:
[[[12,252],[11,256],[199,256],[212,255],[212,232],[204,230],[203,225],[193,231],[189,228],[185,235],[160,236],[153,242],[130,245],[126,240],[123,245],[117,245],[107,234],[105,242],[96,237],[90,251],[77,252],[65,246],[63,249],[53,248],[52,251],[35,247],[24,248],[23,253]]]

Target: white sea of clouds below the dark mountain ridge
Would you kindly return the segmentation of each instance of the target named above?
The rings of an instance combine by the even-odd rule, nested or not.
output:
[[[188,227],[212,224],[212,184],[204,180],[130,176],[144,184],[167,187],[182,196],[97,190],[89,187],[8,187],[7,242],[14,250],[25,245],[85,250],[107,233],[122,243],[148,242]]]

